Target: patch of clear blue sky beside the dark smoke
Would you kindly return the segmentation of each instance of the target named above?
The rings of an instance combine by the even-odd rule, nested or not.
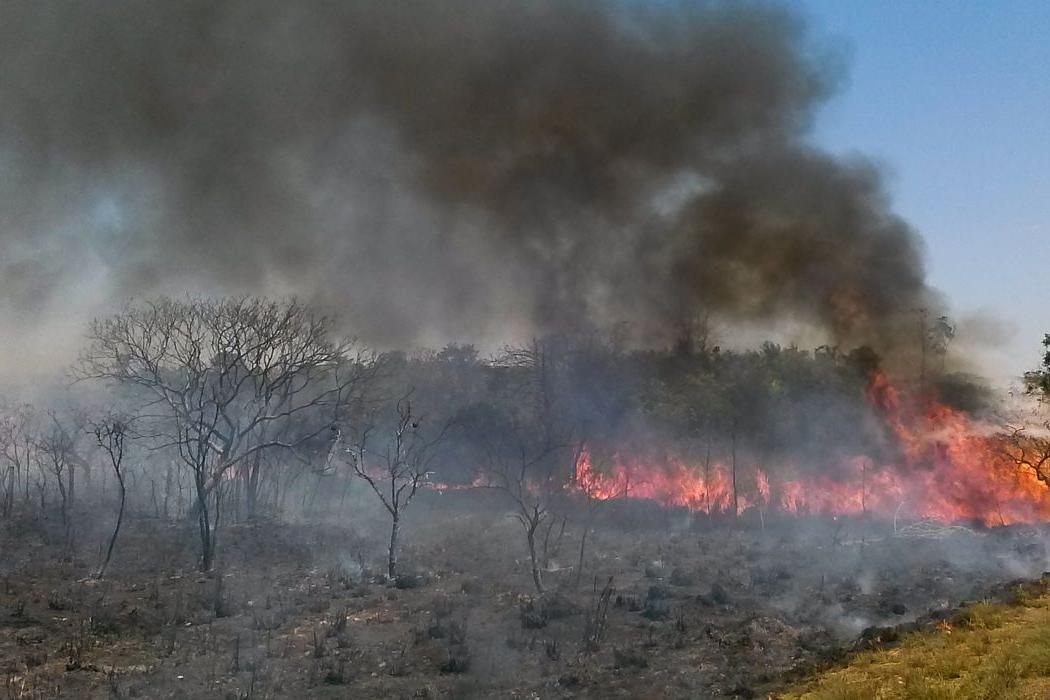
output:
[[[958,316],[1012,327],[986,372],[1034,366],[1050,333],[1050,2],[792,4],[848,59],[817,141],[886,169]]]

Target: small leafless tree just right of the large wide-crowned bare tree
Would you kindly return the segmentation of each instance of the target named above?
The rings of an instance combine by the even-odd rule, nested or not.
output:
[[[397,576],[401,515],[429,478],[434,458],[452,428],[447,422],[428,430],[425,417],[413,412],[411,395],[408,391],[397,401],[392,424],[385,429],[379,418],[381,411],[373,411],[355,431],[351,447],[354,472],[372,487],[391,516],[386,550],[386,574],[391,578]],[[330,451],[329,461],[331,458]]]

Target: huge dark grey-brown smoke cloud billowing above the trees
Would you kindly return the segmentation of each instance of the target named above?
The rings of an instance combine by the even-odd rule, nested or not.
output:
[[[878,172],[806,144],[841,65],[776,6],[7,2],[0,61],[16,326],[189,289],[377,343],[699,313],[863,341],[928,303]]]

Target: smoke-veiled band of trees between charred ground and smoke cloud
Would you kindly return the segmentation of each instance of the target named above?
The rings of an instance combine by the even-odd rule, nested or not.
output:
[[[126,505],[191,524],[207,571],[227,518],[352,517],[357,483],[388,515],[393,577],[420,490],[480,480],[510,504],[543,590],[555,524],[590,512],[566,504],[583,450],[598,469],[627,447],[729,463],[735,497],[738,463],[824,469],[883,449],[865,394],[878,364],[866,347],[636,349],[614,333],[378,353],[295,299],[132,302],[89,324],[67,396],[0,411],[0,514],[57,513],[72,543],[86,493],[113,512],[98,575]]]

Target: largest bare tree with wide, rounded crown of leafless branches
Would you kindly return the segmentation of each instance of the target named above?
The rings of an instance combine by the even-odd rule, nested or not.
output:
[[[136,389],[144,434],[192,472],[202,570],[214,558],[216,485],[250,473],[259,452],[296,455],[377,365],[352,341],[333,340],[331,319],[294,299],[161,298],[97,319],[88,335],[77,375]]]

